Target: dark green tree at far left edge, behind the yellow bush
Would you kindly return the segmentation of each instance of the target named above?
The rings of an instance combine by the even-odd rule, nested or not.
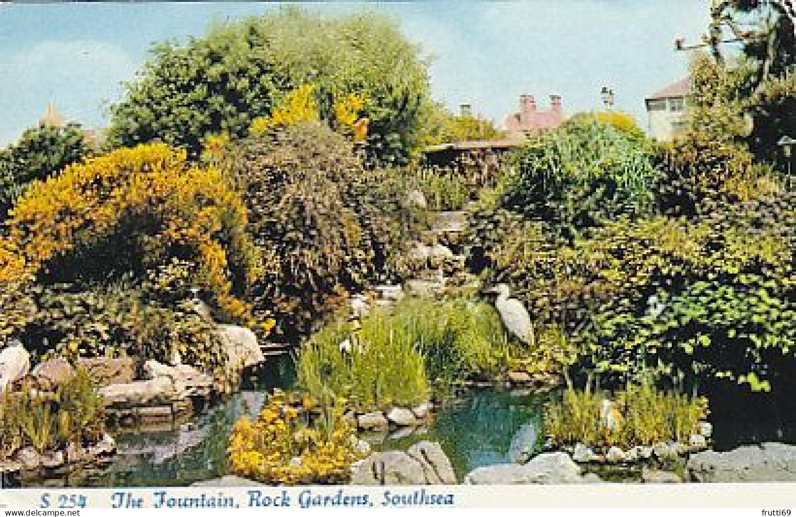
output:
[[[88,156],[90,148],[78,126],[38,126],[0,150],[0,219],[31,181],[44,180]]]

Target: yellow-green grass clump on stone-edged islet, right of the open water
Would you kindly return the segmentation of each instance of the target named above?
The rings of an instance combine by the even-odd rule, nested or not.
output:
[[[624,449],[666,441],[687,441],[706,414],[702,398],[658,391],[652,383],[629,384],[615,394],[621,414],[620,425],[609,429],[600,421],[600,406],[611,399],[604,391],[568,389],[561,402],[545,406],[544,426],[557,445],[582,443]]]

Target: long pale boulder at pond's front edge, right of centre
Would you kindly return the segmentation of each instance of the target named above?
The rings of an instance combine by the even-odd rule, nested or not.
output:
[[[583,476],[567,453],[543,453],[525,465],[479,467],[464,477],[464,484],[576,484],[599,482]]]

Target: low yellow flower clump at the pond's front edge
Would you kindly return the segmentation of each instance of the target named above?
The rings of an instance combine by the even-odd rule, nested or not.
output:
[[[267,484],[342,484],[351,465],[361,459],[356,435],[338,406],[310,417],[276,393],[252,422],[236,422],[229,438],[232,472]]]

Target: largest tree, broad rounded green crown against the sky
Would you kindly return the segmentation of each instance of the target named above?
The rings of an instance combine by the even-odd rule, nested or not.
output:
[[[217,25],[205,37],[152,50],[127,96],[111,107],[111,141],[160,139],[196,154],[209,134],[247,134],[287,91],[314,84],[322,115],[334,99],[366,99],[365,151],[379,163],[404,163],[419,146],[428,103],[419,48],[396,23],[373,13],[329,16],[278,10]],[[325,109],[326,108],[326,109]],[[328,118],[324,116],[324,118]]]

